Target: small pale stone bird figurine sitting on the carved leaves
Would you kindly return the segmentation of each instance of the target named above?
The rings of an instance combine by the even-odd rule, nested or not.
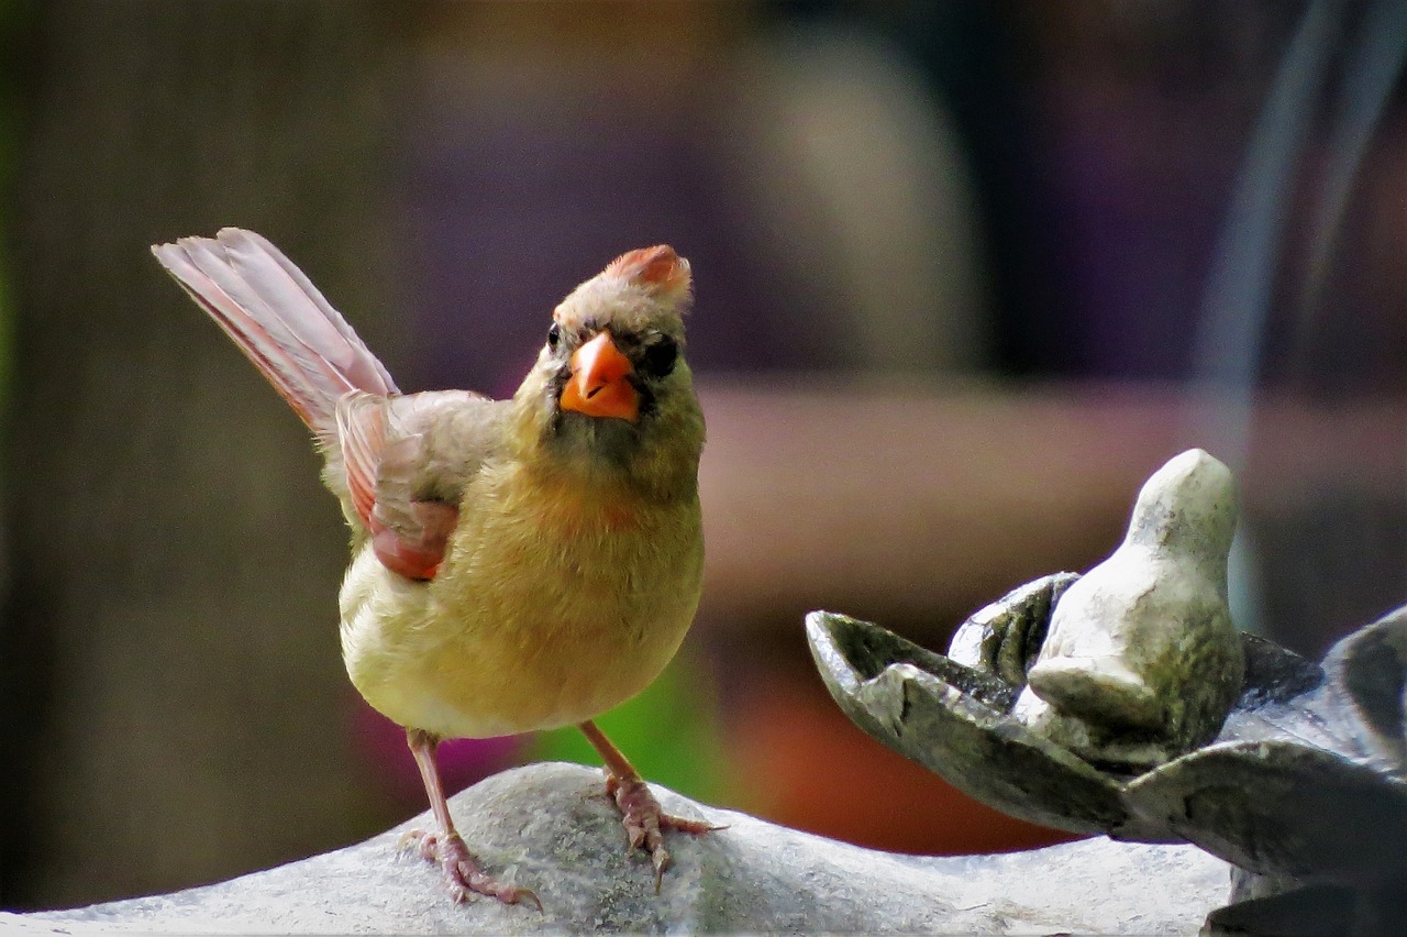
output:
[[[1124,542],[1055,604],[1013,718],[1131,768],[1214,739],[1245,668],[1227,608],[1235,519],[1231,471],[1206,452],[1155,471]]]

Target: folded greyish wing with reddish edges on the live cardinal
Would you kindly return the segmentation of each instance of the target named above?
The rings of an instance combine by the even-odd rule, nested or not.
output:
[[[505,414],[505,401],[471,391],[391,398],[353,391],[338,401],[350,502],[387,568],[435,578],[460,499],[497,452]]]

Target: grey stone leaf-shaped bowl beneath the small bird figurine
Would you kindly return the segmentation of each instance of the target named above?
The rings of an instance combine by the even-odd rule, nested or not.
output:
[[[1247,896],[1272,913],[1272,933],[1273,914],[1306,900],[1335,922],[1331,933],[1399,919],[1403,929],[1380,930],[1407,933],[1407,912],[1393,916],[1407,907],[1407,606],[1344,637],[1323,664],[1242,635],[1245,684],[1221,734],[1128,774],[1009,712],[1020,688],[1005,674],[1033,660],[1043,615],[1071,578],[1044,577],[982,609],[951,657],[829,612],[806,618],[808,639],[857,726],[979,801],[1076,833],[1200,846],[1255,878]],[[1289,899],[1311,885],[1346,891]],[[1266,903],[1279,893],[1287,905]]]

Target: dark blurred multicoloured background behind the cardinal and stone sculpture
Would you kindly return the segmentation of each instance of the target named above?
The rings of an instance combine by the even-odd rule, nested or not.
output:
[[[401,387],[508,394],[622,250],[696,277],[698,623],[650,779],[888,850],[1059,839],[854,729],[829,608],[944,647],[1192,445],[1242,627],[1407,594],[1407,6],[0,0],[0,906],[425,809],[342,673],[303,426],[148,245],[280,245]],[[446,747],[453,788],[571,733]]]

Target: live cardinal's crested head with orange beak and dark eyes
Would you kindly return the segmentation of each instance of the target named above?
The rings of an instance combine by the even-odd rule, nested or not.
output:
[[[563,300],[515,395],[519,443],[566,470],[671,494],[696,484],[704,416],[684,360],[689,263],[620,255]]]

